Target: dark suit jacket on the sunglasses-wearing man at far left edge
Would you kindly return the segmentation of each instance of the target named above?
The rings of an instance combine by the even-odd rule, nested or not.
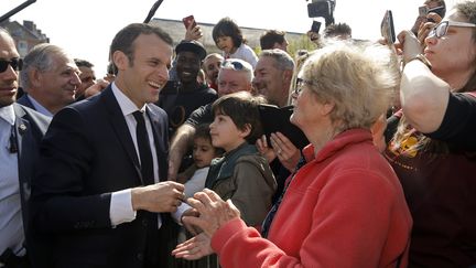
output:
[[[29,224],[29,200],[30,186],[33,176],[33,167],[36,163],[40,142],[50,125],[51,118],[24,107],[19,104],[13,104],[15,115],[15,144],[18,148],[18,168],[19,168],[19,185],[21,206],[23,215],[23,227],[26,237],[26,250],[29,256],[35,256],[36,248],[40,245],[32,245],[30,235],[26,233]]]

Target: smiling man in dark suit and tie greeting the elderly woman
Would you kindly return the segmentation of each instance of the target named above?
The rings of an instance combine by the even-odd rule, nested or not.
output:
[[[159,213],[181,212],[184,186],[165,181],[167,118],[152,103],[171,57],[169,34],[130,24],[110,45],[116,81],[54,116],[31,206],[32,232],[52,240],[50,267],[167,267],[170,222]]]

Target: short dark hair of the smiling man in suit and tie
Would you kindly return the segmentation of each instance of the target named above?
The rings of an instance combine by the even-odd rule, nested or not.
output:
[[[127,55],[129,61],[133,61],[133,42],[141,34],[155,34],[162,41],[164,41],[170,46],[173,45],[173,40],[159,26],[153,26],[145,23],[131,23],[120,30],[112,40],[112,43],[109,49],[109,57],[112,60],[112,54],[116,51],[121,51]],[[115,66],[117,69],[117,67]]]

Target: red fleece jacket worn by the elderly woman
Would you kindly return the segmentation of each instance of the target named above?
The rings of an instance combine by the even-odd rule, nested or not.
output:
[[[215,233],[221,266],[405,267],[412,219],[370,132],[348,130],[315,158],[312,146],[303,153],[307,163],[291,181],[268,239],[239,218]]]

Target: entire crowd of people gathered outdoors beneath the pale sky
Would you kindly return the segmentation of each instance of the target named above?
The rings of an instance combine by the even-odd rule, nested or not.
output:
[[[424,7],[296,52],[131,23],[104,79],[0,29],[0,267],[476,267],[476,2]]]

